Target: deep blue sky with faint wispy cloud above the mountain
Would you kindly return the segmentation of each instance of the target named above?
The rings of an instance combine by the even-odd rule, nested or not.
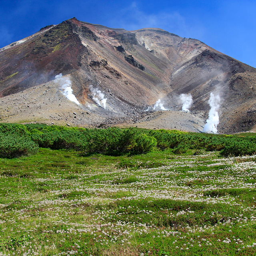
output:
[[[0,0],[0,48],[73,17],[126,30],[162,28],[256,68],[254,0]]]

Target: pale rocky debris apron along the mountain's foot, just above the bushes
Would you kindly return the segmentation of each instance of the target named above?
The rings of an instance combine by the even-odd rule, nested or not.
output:
[[[202,132],[200,114],[182,111],[142,111],[127,108],[125,112],[106,110],[97,104],[90,108],[68,100],[58,84],[50,81],[18,94],[0,99],[0,122],[44,123],[83,127],[134,126],[148,129],[176,129]]]

